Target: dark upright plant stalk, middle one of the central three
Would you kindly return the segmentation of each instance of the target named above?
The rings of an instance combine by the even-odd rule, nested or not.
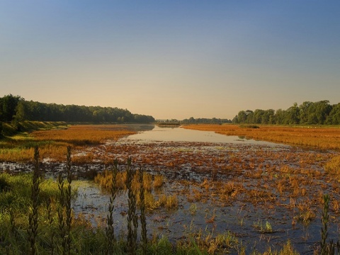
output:
[[[135,170],[131,167],[131,158],[128,158],[126,168],[126,188],[128,188],[128,253],[135,255],[137,249],[137,227],[138,219],[136,215],[136,195],[132,190],[132,180],[135,176]],[[132,226],[133,225],[133,226]]]

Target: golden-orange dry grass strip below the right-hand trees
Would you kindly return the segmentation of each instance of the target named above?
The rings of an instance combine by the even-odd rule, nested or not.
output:
[[[214,131],[222,135],[238,135],[254,140],[304,145],[319,149],[340,149],[340,128],[288,127],[261,125],[260,128],[242,128],[238,125],[184,125],[193,130]]]

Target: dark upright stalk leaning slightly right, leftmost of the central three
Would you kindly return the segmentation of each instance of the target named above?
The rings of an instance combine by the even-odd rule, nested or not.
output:
[[[106,238],[107,238],[107,247],[106,253],[113,254],[113,245],[115,243],[115,232],[113,227],[113,202],[115,201],[115,196],[118,191],[117,188],[117,174],[118,174],[118,159],[115,159],[113,162],[113,169],[111,170],[112,179],[111,179],[111,197],[110,204],[108,205],[108,225],[106,227]]]

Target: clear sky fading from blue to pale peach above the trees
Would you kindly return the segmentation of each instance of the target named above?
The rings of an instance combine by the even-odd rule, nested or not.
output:
[[[340,102],[340,1],[0,0],[0,96],[154,118]]]

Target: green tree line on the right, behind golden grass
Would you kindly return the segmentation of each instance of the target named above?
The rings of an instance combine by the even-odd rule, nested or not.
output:
[[[278,125],[340,125],[340,103],[329,101],[294,103],[287,110],[239,111],[232,123],[278,124]]]

